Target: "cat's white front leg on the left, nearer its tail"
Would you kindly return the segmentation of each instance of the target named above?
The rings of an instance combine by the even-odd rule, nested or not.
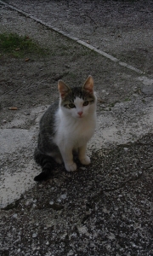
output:
[[[65,163],[65,169],[67,172],[75,172],[77,170],[77,165],[73,161],[72,149],[65,147],[60,148],[60,153]]]

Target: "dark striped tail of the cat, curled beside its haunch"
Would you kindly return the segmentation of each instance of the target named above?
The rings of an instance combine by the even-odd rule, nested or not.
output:
[[[42,172],[34,177],[34,181],[40,182],[47,180],[49,177],[53,177],[52,170],[54,169],[54,159],[51,156],[42,154],[42,152],[36,148],[34,152],[34,160],[38,165],[42,166]]]

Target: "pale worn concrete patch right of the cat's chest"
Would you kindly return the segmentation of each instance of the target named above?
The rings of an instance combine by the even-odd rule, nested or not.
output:
[[[134,142],[139,137],[152,132],[153,104],[150,102],[150,107],[144,108],[144,110],[142,108],[142,112],[134,109],[134,105],[130,109],[130,105],[133,105],[132,102],[117,103],[110,113],[108,111],[98,116],[97,129],[94,137],[88,143],[88,149],[96,151],[102,147],[107,148],[112,145]],[[122,114],[118,118],[121,108]],[[131,119],[129,118],[130,112],[133,112]]]

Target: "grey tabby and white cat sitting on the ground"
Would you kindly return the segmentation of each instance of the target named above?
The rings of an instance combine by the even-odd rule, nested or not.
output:
[[[76,171],[74,151],[82,165],[90,164],[86,148],[96,126],[94,79],[88,76],[82,87],[73,88],[59,80],[58,90],[59,102],[54,102],[40,120],[34,159],[42,166],[42,172],[35,181],[52,177],[55,162],[64,162],[68,172]]]

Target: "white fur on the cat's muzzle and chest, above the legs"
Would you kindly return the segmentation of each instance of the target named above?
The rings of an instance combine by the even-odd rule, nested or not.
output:
[[[54,143],[60,147],[79,148],[88,143],[96,126],[96,102],[82,106],[83,100],[76,98],[76,108],[59,107],[56,113],[56,135]],[[82,111],[80,118],[78,112]]]

